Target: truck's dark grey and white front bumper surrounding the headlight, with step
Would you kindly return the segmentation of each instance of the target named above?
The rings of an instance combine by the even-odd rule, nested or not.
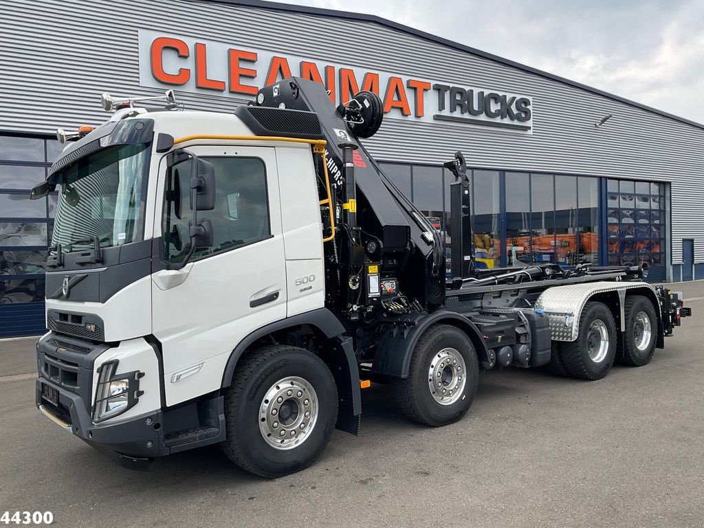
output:
[[[224,440],[224,398],[219,391],[173,408],[160,406],[160,369],[156,351],[149,347],[142,339],[111,346],[49,332],[37,341],[37,408],[130,469],[144,470],[158,456]],[[144,372],[144,394],[123,415],[96,423],[92,416],[96,367],[111,360],[118,360],[124,372]]]

